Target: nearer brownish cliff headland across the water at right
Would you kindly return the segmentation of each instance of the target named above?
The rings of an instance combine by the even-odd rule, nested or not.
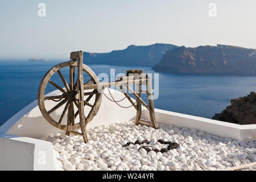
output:
[[[256,49],[235,46],[179,47],[164,53],[155,71],[256,75]]]

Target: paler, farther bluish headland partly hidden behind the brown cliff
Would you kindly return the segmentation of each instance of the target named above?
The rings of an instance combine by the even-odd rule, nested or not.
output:
[[[150,46],[131,45],[123,50],[108,53],[84,52],[85,64],[143,65],[154,66],[162,59],[163,54],[173,48],[172,44],[152,44]]]

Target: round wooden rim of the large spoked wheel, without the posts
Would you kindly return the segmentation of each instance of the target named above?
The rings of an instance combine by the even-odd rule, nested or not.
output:
[[[58,123],[57,121],[55,121],[55,119],[53,119],[50,115],[49,110],[47,111],[46,110],[46,106],[44,104],[45,102],[45,95],[44,95],[44,92],[46,90],[46,86],[50,80],[50,78],[53,76],[54,73],[58,72],[59,73],[59,70],[61,68],[64,68],[64,67],[77,67],[78,66],[78,63],[77,61],[67,61],[67,62],[64,62],[64,63],[60,63],[60,64],[57,64],[55,65],[54,67],[52,67],[51,69],[49,69],[49,71],[46,73],[46,75],[44,75],[44,77],[42,78],[42,81],[40,82],[40,86],[39,86],[39,89],[38,89],[38,106],[39,106],[39,109],[43,115],[43,117],[53,126],[57,127],[58,129],[61,129],[61,130],[64,130],[64,131],[75,131],[75,130],[78,130],[80,129],[80,121],[78,123],[75,123],[74,121],[74,125],[68,125],[68,121],[67,121],[67,125],[63,125],[61,123]],[[92,71],[92,69],[90,69],[88,66],[86,66],[85,64],[82,64],[82,69],[84,72],[87,73],[87,75],[91,78],[91,82],[93,82],[94,84],[98,84],[100,83],[100,81],[98,80],[98,77],[97,75]],[[61,73],[60,73],[61,74]],[[75,75],[75,72],[73,73]],[[60,78],[61,78],[61,75],[60,75]],[[75,80],[75,78],[74,78]],[[89,81],[90,81],[89,80]],[[53,83],[54,84],[54,83]],[[75,85],[75,82],[73,82],[73,86]],[[64,84],[64,86],[66,87],[67,85]],[[67,90],[68,86],[66,87],[66,90]],[[76,88],[74,88],[75,90]],[[73,103],[75,104],[75,102],[72,101],[71,99],[71,96],[68,97],[68,93],[72,92],[72,90],[67,90],[67,92],[65,92],[64,89],[61,90],[61,88],[59,89],[61,92],[64,92],[67,94],[66,97],[63,97],[64,100],[67,100],[64,102],[63,105],[65,105],[66,103],[69,102],[69,104]],[[70,94],[69,94],[70,95]],[[89,123],[90,121],[92,121],[94,115],[97,114],[98,112],[98,109],[100,108],[100,104],[101,104],[101,97],[102,95],[100,93],[97,93],[95,94],[95,100],[94,100],[94,104],[92,106],[92,108],[90,109],[89,113],[88,113],[88,117],[85,118],[86,119],[86,124]],[[63,99],[61,98],[61,100]],[[62,101],[64,101],[62,100]],[[59,102],[60,103],[60,102]],[[68,104],[66,104],[67,106]],[[53,109],[53,108],[52,108]],[[65,114],[64,114],[65,115]],[[75,113],[74,113],[75,115]],[[90,115],[90,117],[89,117]],[[68,119],[68,118],[67,118]],[[88,120],[89,119],[89,120]]]

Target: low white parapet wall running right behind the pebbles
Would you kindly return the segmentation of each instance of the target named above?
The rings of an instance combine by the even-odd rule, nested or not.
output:
[[[219,137],[230,137],[236,140],[255,139],[256,137],[256,125],[237,125],[161,109],[155,109],[155,116],[158,123],[188,127]],[[148,110],[142,111],[142,117],[150,121]]]

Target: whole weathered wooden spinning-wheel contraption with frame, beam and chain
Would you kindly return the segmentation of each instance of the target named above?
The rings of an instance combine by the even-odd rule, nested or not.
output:
[[[43,115],[43,117],[53,126],[58,129],[66,131],[66,134],[75,133],[78,135],[82,135],[84,142],[88,141],[88,137],[86,134],[86,125],[92,121],[94,115],[97,114],[100,109],[102,90],[108,88],[110,86],[118,87],[122,90],[122,93],[125,95],[127,100],[131,102],[131,106],[137,110],[137,117],[135,120],[136,125],[146,125],[150,127],[154,127],[158,129],[158,123],[155,119],[155,110],[154,110],[154,101],[152,98],[152,82],[151,78],[142,72],[142,69],[132,69],[127,71],[126,76],[118,77],[117,81],[112,82],[100,82],[96,74],[90,69],[88,66],[82,63],[82,51],[71,52],[70,55],[71,61],[67,61],[65,63],[57,64],[55,67],[51,68],[46,75],[44,75],[38,90],[38,106]],[[64,76],[61,73],[62,68],[69,68],[69,84],[65,80]],[[75,81],[75,68],[77,67],[77,80]],[[60,80],[63,82],[65,88],[61,88],[61,86],[57,85],[55,82],[51,80],[51,77],[54,73],[57,72]],[[83,73],[86,73],[90,78],[84,83]],[[46,90],[47,84],[51,84],[55,86],[60,92],[61,95],[57,96],[45,96],[44,92]],[[130,88],[130,84],[135,84],[136,92]],[[142,85],[146,86],[146,90],[142,90]],[[130,91],[135,97],[136,101],[130,98],[129,94],[123,89],[123,86],[126,87],[127,90]],[[85,92],[88,91],[88,92]],[[141,98],[142,93],[147,93],[148,105]],[[110,96],[111,93],[109,92]],[[105,94],[104,94],[105,95]],[[88,96],[85,99],[85,96]],[[90,99],[95,96],[94,103],[91,104]],[[106,96],[106,95],[105,95]],[[107,97],[107,96],[106,96]],[[107,97],[108,98],[108,97]],[[113,99],[113,100],[112,100]],[[115,101],[113,96],[112,99],[109,98],[110,101],[114,101],[117,105],[119,105]],[[124,98],[123,98],[124,99]],[[122,100],[123,100],[122,99]],[[53,100],[55,102],[59,102],[51,109],[46,109],[45,102],[48,100]],[[120,100],[120,101],[122,101]],[[53,118],[51,113],[55,112],[57,109],[61,109],[61,106],[64,106],[63,111],[61,111],[61,115],[58,119]],[[146,107],[150,114],[151,121],[142,121],[142,105]],[[75,106],[77,107],[77,111],[75,112]],[[84,107],[90,107],[90,111],[88,115],[85,116]],[[121,106],[121,105],[119,105]],[[123,106],[121,106],[123,107]],[[129,106],[130,107],[130,106]],[[128,108],[128,107],[123,107]],[[64,115],[67,114],[67,122],[64,122]],[[75,122],[75,119],[79,115],[79,122]],[[81,129],[81,133],[77,130]]]

